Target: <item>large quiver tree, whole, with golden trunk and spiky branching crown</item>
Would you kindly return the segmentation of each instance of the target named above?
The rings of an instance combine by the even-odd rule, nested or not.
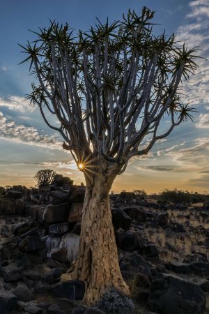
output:
[[[24,52],[36,84],[27,97],[50,128],[63,137],[79,170],[86,196],[74,278],[86,283],[85,300],[123,281],[109,209],[109,191],[128,160],[148,154],[157,140],[192,119],[180,100],[182,79],[194,74],[195,49],[176,46],[174,35],[153,35],[154,12],[143,8],[118,22],[100,21],[74,35],[68,24],[51,22],[35,32]],[[23,62],[24,62],[23,61]],[[55,116],[60,127],[49,121]],[[163,120],[170,119],[167,130]],[[52,119],[53,121],[53,119]]]

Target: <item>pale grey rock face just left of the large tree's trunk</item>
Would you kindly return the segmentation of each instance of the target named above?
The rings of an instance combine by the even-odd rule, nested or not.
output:
[[[61,239],[60,248],[65,248],[67,251],[68,262],[73,262],[77,257],[80,237],[77,234],[68,233]]]

